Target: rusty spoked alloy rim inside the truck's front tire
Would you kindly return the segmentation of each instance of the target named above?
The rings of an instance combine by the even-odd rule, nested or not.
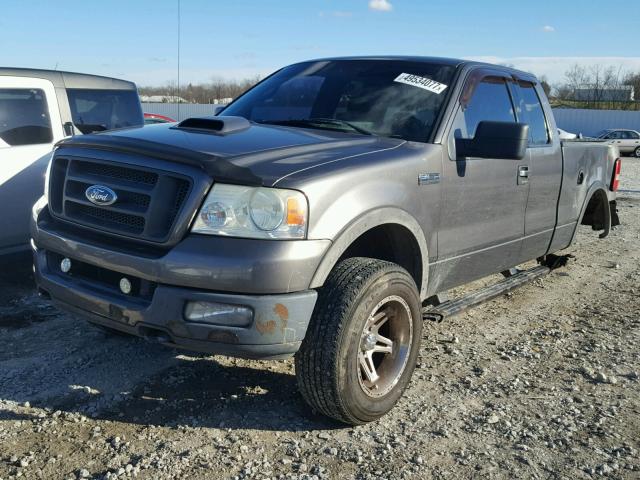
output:
[[[358,380],[369,397],[382,397],[404,372],[413,341],[409,304],[397,295],[381,300],[365,322],[358,346]]]

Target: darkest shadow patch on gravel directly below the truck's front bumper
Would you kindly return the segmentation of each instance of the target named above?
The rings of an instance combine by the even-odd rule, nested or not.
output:
[[[239,360],[238,363],[247,363]],[[103,417],[145,425],[298,431],[338,428],[313,415],[294,375],[269,370],[270,362],[223,365],[190,359],[140,385]]]

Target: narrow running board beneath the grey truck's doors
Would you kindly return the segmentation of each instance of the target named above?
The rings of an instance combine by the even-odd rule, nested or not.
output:
[[[464,297],[460,297],[456,300],[448,300],[437,306],[427,306],[422,309],[422,318],[424,320],[441,322],[445,317],[456,315],[467,308],[475,307],[487,300],[499,297],[500,295],[510,292],[525,283],[529,283],[536,278],[546,275],[550,271],[551,269],[544,265],[539,265],[537,267],[530,268],[529,270],[523,270],[499,281],[498,283],[481,288],[475,292],[471,292]]]

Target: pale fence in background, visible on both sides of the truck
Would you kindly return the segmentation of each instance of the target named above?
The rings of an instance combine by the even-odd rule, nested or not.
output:
[[[142,110],[166,115],[179,121],[189,117],[213,115],[218,106],[197,103],[143,103]],[[586,136],[594,136],[607,128],[640,130],[640,111],[554,108],[553,113],[558,127]]]

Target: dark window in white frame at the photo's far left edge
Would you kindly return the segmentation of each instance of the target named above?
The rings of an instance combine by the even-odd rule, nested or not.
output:
[[[0,88],[0,146],[53,141],[45,94],[39,89]]]

